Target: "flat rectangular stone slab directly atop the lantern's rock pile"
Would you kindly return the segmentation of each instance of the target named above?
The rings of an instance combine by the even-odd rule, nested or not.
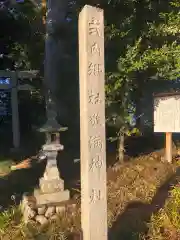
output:
[[[68,201],[70,199],[69,190],[55,192],[55,193],[34,193],[36,197],[36,205],[38,207],[43,205],[58,205],[61,202]]]

